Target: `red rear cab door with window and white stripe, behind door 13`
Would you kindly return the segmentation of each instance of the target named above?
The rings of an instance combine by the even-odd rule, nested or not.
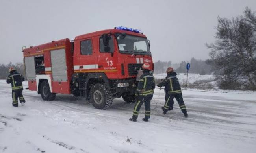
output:
[[[94,72],[98,69],[91,38],[81,40],[79,50],[79,65],[74,66],[74,72]]]

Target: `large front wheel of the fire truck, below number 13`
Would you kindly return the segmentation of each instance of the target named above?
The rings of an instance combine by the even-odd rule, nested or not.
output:
[[[89,101],[96,109],[106,109],[113,103],[113,98],[106,85],[97,83],[90,89]]]

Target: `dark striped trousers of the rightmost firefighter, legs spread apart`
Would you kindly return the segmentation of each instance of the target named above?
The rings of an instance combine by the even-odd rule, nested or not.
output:
[[[173,98],[175,98],[177,100],[178,104],[180,105],[180,109],[181,109],[182,113],[186,113],[187,109],[186,109],[185,103],[182,98],[182,93],[180,93],[180,94],[166,93],[165,94],[165,105],[164,105],[165,111],[173,109]]]

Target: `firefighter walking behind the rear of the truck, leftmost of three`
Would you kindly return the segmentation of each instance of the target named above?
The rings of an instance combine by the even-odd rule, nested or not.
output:
[[[22,106],[25,105],[25,99],[22,95],[22,82],[25,80],[22,74],[19,74],[14,68],[9,68],[9,76],[6,79],[8,84],[11,83],[13,106],[18,107],[18,98]]]

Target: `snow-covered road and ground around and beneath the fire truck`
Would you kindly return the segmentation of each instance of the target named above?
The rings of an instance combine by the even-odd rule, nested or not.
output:
[[[24,83],[27,87],[27,83]],[[162,114],[165,94],[156,88],[149,122],[142,106],[115,99],[107,110],[84,98],[57,94],[43,101],[24,90],[26,105],[12,107],[11,87],[0,80],[0,152],[3,153],[255,153],[256,92],[183,90],[189,117],[178,103]]]

